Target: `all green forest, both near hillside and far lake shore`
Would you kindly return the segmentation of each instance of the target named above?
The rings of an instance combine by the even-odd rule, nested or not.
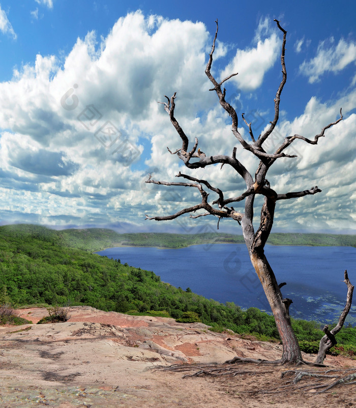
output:
[[[171,240],[167,237],[169,234],[123,235],[125,237],[105,229],[55,231],[36,225],[0,227],[0,302],[7,298],[15,307],[88,305],[105,311],[199,320],[211,325],[213,330],[230,329],[242,335],[253,334],[261,340],[279,341],[274,318],[257,308],[242,310],[233,303],[208,300],[189,288],[175,288],[162,282],[153,271],[123,265],[120,260],[93,253],[112,243],[128,244],[130,239],[137,245],[164,241],[169,248],[175,248],[175,244],[182,242],[201,243],[202,239],[207,242],[213,239],[210,234],[205,238],[172,235]],[[281,242],[291,234],[275,235]],[[298,235],[293,238],[293,244]],[[330,237],[323,239],[331,242]],[[342,237],[344,244],[354,246],[354,237]],[[223,234],[219,242],[224,239],[229,242],[232,238],[242,237]],[[317,234],[302,238],[300,244],[324,242]],[[293,328],[304,350],[317,348],[323,336],[320,324],[293,320]],[[356,353],[356,329],[343,328],[337,340],[334,352]]]

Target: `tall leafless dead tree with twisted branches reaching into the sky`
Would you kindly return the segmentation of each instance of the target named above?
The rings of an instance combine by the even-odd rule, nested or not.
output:
[[[333,123],[321,129],[321,132],[315,135],[314,139],[307,139],[299,134],[294,134],[292,136],[287,136],[281,145],[273,153],[268,153],[263,148],[263,143],[268,140],[271,133],[275,129],[278,118],[279,118],[279,104],[280,97],[283,87],[286,83],[287,72],[284,63],[285,54],[285,43],[287,32],[281,27],[280,22],[274,20],[277,23],[278,29],[283,33],[282,41],[282,52],[281,52],[281,65],[282,65],[282,80],[278,87],[276,97],[274,99],[274,118],[270,122],[267,130],[259,135],[258,138],[255,137],[251,123],[248,123],[242,114],[242,120],[249,129],[250,140],[247,141],[243,138],[242,134],[238,130],[238,115],[235,109],[226,101],[226,90],[221,88],[222,84],[237,74],[231,74],[227,76],[222,81],[218,82],[211,73],[211,67],[213,63],[213,54],[215,49],[215,41],[218,34],[218,21],[216,20],[216,33],[214,37],[214,42],[212,50],[210,52],[209,61],[206,65],[205,74],[210,79],[213,84],[211,91],[215,91],[220,105],[229,114],[232,122],[232,133],[240,145],[251,152],[259,159],[259,165],[256,169],[254,177],[245,168],[242,162],[236,157],[237,148],[234,147],[231,156],[230,155],[206,155],[200,148],[198,148],[198,139],[195,138],[195,143],[192,148],[189,148],[189,140],[185,134],[182,127],[179,125],[174,117],[175,110],[175,98],[176,93],[171,98],[167,98],[167,102],[164,102],[164,108],[169,114],[170,121],[177,133],[182,139],[182,147],[172,152],[168,149],[171,154],[176,154],[181,160],[183,160],[185,166],[189,169],[200,169],[207,166],[221,164],[231,166],[236,173],[238,173],[246,183],[246,190],[237,197],[225,197],[224,192],[218,188],[212,186],[207,180],[198,179],[191,177],[187,174],[179,173],[176,177],[185,179],[185,182],[163,182],[155,181],[150,175],[146,183],[164,184],[164,185],[181,185],[185,187],[197,188],[201,195],[201,202],[189,208],[184,208],[181,211],[176,212],[172,215],[167,216],[153,216],[150,217],[146,215],[146,219],[163,221],[163,220],[173,220],[176,217],[195,212],[197,210],[203,210],[204,212],[199,212],[197,215],[191,215],[191,217],[200,217],[205,215],[215,215],[218,217],[219,221],[223,218],[229,218],[237,221],[242,225],[242,232],[245,239],[246,246],[248,248],[249,256],[252,265],[258,275],[259,280],[263,286],[263,290],[268,298],[269,304],[272,309],[272,313],[276,320],[277,329],[283,344],[283,356],[280,362],[296,362],[300,363],[302,361],[301,350],[293,333],[290,316],[289,316],[289,306],[292,301],[289,298],[284,298],[280,286],[276,280],[273,270],[264,255],[264,246],[266,240],[268,239],[274,219],[274,212],[276,203],[279,200],[289,200],[293,198],[304,197],[307,195],[314,195],[321,192],[321,190],[315,186],[310,189],[300,191],[300,192],[290,192],[284,194],[278,194],[273,188],[271,188],[269,181],[266,179],[266,175],[270,167],[274,162],[282,157],[293,158],[295,155],[290,155],[285,153],[285,149],[290,146],[295,140],[301,140],[303,142],[309,143],[311,145],[316,145],[320,138],[324,136],[325,130],[336,125],[342,120],[342,114],[340,110],[340,118]],[[161,102],[162,103],[162,102]],[[194,160],[191,160],[193,159]],[[197,160],[198,158],[199,160]],[[209,194],[206,192],[210,191],[215,193],[217,198],[209,202]],[[253,206],[254,199],[256,195],[261,195],[264,197],[264,202],[261,208],[260,224],[255,231],[253,226]],[[236,211],[231,205],[232,203],[245,201],[245,211],[244,213]]]

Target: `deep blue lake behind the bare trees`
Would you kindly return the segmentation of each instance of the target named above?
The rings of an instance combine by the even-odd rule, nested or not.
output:
[[[271,311],[244,244],[203,244],[174,250],[110,248],[98,254],[153,270],[164,282],[190,287],[221,303]],[[287,283],[281,290],[293,301],[291,316],[322,323],[338,319],[346,301],[345,269],[356,284],[356,248],[267,245],[265,254],[277,281]],[[356,307],[351,307],[346,322],[356,324]]]

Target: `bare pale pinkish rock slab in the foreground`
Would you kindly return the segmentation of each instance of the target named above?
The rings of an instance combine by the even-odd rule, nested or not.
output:
[[[20,313],[36,323],[47,310]],[[69,315],[65,323],[0,328],[1,407],[240,406],[221,382],[152,369],[222,363],[234,356],[274,360],[282,353],[278,344],[214,333],[202,323],[86,306],[71,307]]]

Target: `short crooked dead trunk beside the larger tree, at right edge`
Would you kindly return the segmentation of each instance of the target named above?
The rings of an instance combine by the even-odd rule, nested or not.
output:
[[[351,282],[348,279],[347,270],[345,270],[344,274],[345,274],[344,282],[347,285],[346,305],[339,317],[338,324],[334,327],[334,329],[329,331],[328,326],[324,327],[323,332],[325,333],[325,336],[320,340],[319,351],[315,360],[316,364],[322,364],[324,362],[326,353],[331,349],[331,347],[333,347],[337,343],[335,335],[339,333],[341,328],[343,327],[346,316],[351,308],[353,286],[351,285]]]

